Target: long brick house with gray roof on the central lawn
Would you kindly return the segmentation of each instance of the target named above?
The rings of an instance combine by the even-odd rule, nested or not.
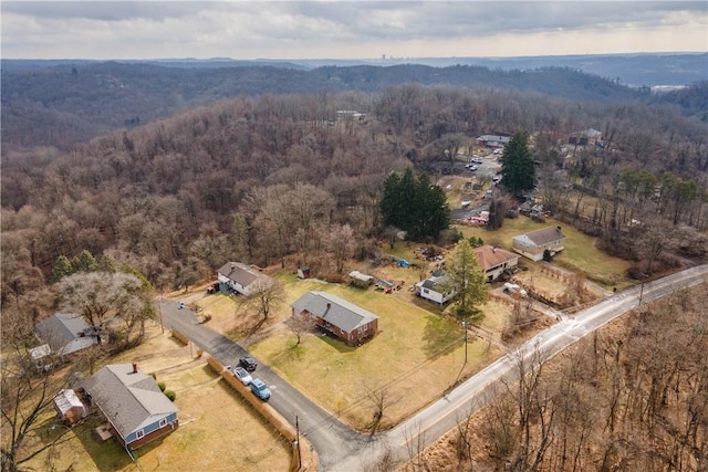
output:
[[[309,314],[319,327],[350,346],[365,343],[378,333],[378,316],[325,292],[308,292],[291,307],[293,316]]]

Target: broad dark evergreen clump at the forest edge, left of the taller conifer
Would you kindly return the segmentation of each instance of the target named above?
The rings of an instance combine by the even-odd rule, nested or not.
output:
[[[430,183],[426,175],[416,178],[412,168],[403,176],[392,174],[384,181],[381,211],[385,225],[406,231],[412,240],[437,238],[450,221],[442,189]]]

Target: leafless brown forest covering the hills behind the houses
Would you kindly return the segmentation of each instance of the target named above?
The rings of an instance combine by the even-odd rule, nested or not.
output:
[[[112,104],[133,103],[131,96],[157,115],[176,104],[187,106],[207,90],[218,98],[229,87],[217,72],[211,82],[200,83],[199,91],[177,82],[165,86],[156,78],[164,80],[164,73],[145,65],[131,76],[173,98],[159,95],[163,92],[140,95],[139,86],[116,82],[126,65],[95,67],[93,73],[83,67],[76,67],[76,74],[71,69],[35,72],[35,82],[23,87],[6,86],[6,80],[11,81],[3,73],[3,317],[14,314],[34,322],[50,311],[53,298],[42,291],[58,259],[76,258],[82,251],[136,268],[158,290],[212,276],[228,260],[287,266],[295,258],[293,268],[306,262],[322,274],[336,272],[327,261],[341,251],[343,238],[351,242],[352,256],[375,253],[374,237],[384,225],[383,182],[391,172],[413,167],[429,172],[435,182],[437,164],[449,158],[446,149],[467,149],[488,133],[527,133],[544,206],[600,237],[608,251],[644,261],[637,262],[638,276],[667,263],[665,250],[696,261],[708,252],[706,122],[674,104],[645,101],[606,81],[601,84],[597,77],[556,70],[538,72],[543,78],[530,80],[530,73],[494,75],[451,67],[445,70],[450,77],[458,74],[451,83],[478,73],[499,84],[518,76],[529,86],[383,86],[379,80],[372,82],[373,92],[323,88],[258,96],[238,88],[229,93],[242,95],[166,119],[140,119],[64,148],[42,146],[43,136],[56,137],[56,123],[72,128],[76,122],[71,116],[83,112],[95,125],[88,134],[118,126],[110,122],[136,113],[127,107],[116,112]],[[304,74],[239,71],[251,74],[253,84],[266,76],[269,83],[288,83],[298,73]],[[320,84],[314,76],[366,83],[367,74],[397,74],[395,69],[371,67],[312,73],[295,83],[312,90]],[[433,73],[417,67],[408,70],[414,75],[407,77],[425,83]],[[584,88],[589,96],[551,97],[528,90],[540,83],[551,86],[551,77],[565,76],[562,83],[571,84],[569,74],[576,78],[574,90]],[[63,77],[59,82],[74,81],[75,95],[48,87],[56,76]],[[86,85],[96,81],[100,87]],[[30,134],[13,125],[28,116],[14,107],[23,90],[45,94],[27,104],[46,118],[33,120]],[[613,92],[613,98],[589,99],[602,91]],[[705,101],[705,86],[688,96],[700,97],[701,91]],[[56,103],[65,106],[63,112]],[[337,113],[342,111],[358,114]],[[102,114],[103,122],[96,118]],[[602,147],[568,146],[569,136],[587,128],[603,133]],[[32,146],[18,146],[25,140]]]

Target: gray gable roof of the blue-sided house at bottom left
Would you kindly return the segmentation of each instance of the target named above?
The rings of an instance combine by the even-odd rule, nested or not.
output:
[[[84,388],[123,439],[178,411],[155,379],[131,364],[105,366]]]

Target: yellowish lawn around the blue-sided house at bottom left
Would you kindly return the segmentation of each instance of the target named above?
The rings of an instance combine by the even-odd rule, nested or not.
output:
[[[110,360],[135,361],[142,371],[156,373],[158,381],[177,394],[179,428],[137,450],[140,468],[115,439],[96,439],[93,429],[101,423],[97,417],[76,426],[70,432],[71,441],[45,451],[30,465],[50,470],[51,458],[54,470],[74,471],[288,470],[290,444],[220,381],[204,359],[192,359],[189,347],[168,336],[159,326],[152,326],[142,346]],[[55,423],[51,418],[48,421],[48,428]]]

